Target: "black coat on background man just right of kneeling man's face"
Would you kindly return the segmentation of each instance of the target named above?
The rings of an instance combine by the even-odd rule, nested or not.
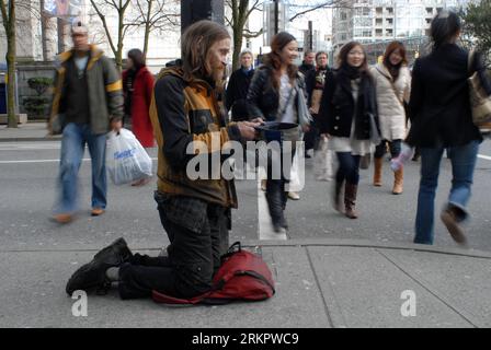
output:
[[[227,107],[227,110],[231,109],[232,120],[235,121],[249,119],[246,100],[253,75],[254,70],[244,72],[242,68],[236,70],[230,75],[225,96],[225,106]]]

